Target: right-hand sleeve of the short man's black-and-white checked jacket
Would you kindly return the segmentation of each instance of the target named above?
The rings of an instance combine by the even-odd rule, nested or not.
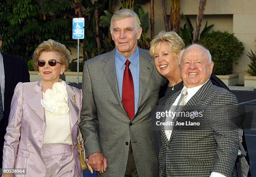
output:
[[[210,109],[209,121],[217,143],[212,172],[232,177],[239,146],[236,128],[236,121],[239,119],[238,101],[231,92],[224,92],[217,95]]]

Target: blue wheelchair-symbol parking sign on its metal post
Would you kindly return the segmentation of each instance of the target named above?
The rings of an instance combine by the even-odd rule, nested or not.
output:
[[[79,83],[79,39],[84,39],[84,18],[73,18],[72,38],[77,39],[77,84]]]

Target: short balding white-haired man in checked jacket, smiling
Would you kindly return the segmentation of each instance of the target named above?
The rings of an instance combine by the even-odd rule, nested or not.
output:
[[[213,128],[188,131],[178,130],[178,126],[168,130],[165,126],[161,131],[159,176],[232,177],[238,155],[238,131],[228,125],[235,119],[233,115],[237,115],[230,109],[238,107],[236,96],[212,85],[209,78],[213,62],[204,47],[191,45],[183,50],[180,67],[184,87],[166,101],[165,109],[172,109],[174,105],[205,107],[210,114],[203,119],[207,118],[207,124]],[[221,109],[214,110],[214,107]],[[225,121],[227,126],[219,129]]]

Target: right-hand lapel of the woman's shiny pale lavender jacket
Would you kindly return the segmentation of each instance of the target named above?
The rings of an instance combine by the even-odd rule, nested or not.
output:
[[[67,94],[68,94],[68,104],[69,104],[69,120],[70,120],[70,127],[74,127],[78,120],[78,112],[79,112],[79,102],[77,98],[77,93],[73,91],[73,89],[67,85]],[[76,100],[76,103],[74,102]]]

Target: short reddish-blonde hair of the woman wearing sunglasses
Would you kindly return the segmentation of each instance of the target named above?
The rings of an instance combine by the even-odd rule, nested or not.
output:
[[[70,52],[67,50],[67,47],[59,42],[49,39],[39,44],[33,53],[33,67],[35,70],[38,70],[37,61],[42,52],[57,52],[61,60],[60,62],[65,65],[66,69],[69,67]]]

